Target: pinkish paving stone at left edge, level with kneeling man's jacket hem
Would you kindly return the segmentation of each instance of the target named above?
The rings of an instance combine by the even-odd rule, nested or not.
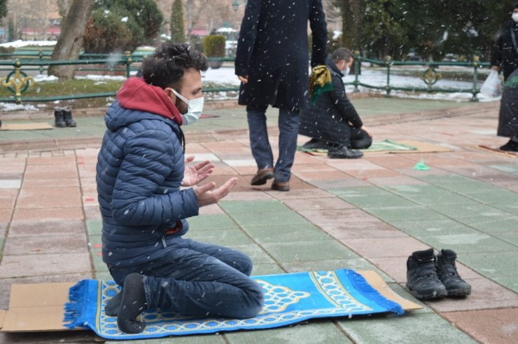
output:
[[[90,258],[87,252],[3,256],[0,264],[0,278],[90,273],[90,271]]]

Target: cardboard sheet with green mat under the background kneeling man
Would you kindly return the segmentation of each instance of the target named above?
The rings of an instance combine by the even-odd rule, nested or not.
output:
[[[304,151],[314,156],[326,156],[328,153],[327,149],[313,149],[307,150],[302,147],[297,147],[299,151]],[[368,149],[362,149],[364,154],[381,154],[381,153],[435,153],[435,152],[448,152],[451,149],[439,146],[437,144],[430,144],[429,142],[411,141],[411,140],[400,140],[393,141],[390,139],[384,139],[383,141],[374,141],[372,146]]]

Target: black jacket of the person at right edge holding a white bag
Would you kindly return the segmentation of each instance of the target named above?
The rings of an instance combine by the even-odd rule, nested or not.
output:
[[[512,32],[514,32],[517,46],[513,44]],[[505,21],[498,32],[498,39],[491,54],[491,65],[502,69],[504,80],[507,80],[514,69],[518,68],[518,23],[514,20]]]

